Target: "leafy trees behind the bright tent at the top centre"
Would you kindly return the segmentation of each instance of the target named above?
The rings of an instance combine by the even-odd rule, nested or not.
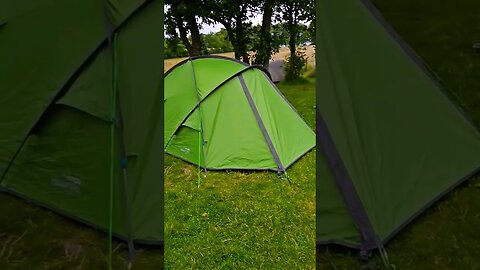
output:
[[[246,63],[267,66],[281,46],[290,59],[314,43],[314,0],[166,0],[165,57],[234,52]],[[259,25],[252,19],[262,18]],[[221,25],[202,34],[202,25]],[[253,55],[253,59],[250,59]]]

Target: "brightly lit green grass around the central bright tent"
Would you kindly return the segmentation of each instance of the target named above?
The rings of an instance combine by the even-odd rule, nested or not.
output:
[[[315,81],[280,84],[315,125]],[[210,171],[165,158],[166,269],[314,269],[315,150],[288,170]]]

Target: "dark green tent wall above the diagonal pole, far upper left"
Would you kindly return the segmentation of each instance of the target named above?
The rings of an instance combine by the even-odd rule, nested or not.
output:
[[[30,129],[104,38],[101,2],[29,2],[36,8],[7,8],[0,29],[0,181]]]

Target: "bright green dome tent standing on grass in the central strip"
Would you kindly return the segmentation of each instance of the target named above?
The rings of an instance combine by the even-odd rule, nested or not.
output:
[[[168,154],[207,169],[279,173],[315,146],[313,130],[258,66],[186,59],[165,76]]]

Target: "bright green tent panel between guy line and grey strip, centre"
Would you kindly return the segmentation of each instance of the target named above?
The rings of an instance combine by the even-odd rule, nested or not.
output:
[[[216,90],[200,108],[208,168],[276,170],[238,78]]]

